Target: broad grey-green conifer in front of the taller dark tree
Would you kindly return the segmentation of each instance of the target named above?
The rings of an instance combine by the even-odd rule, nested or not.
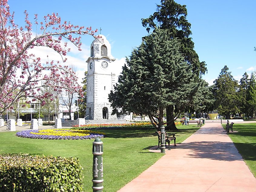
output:
[[[130,58],[126,58],[127,66],[109,94],[111,107],[115,109],[112,114],[118,108],[141,116],[146,114],[159,130],[164,124],[164,109],[171,106],[171,111],[175,109],[177,113],[171,114],[166,129],[176,129],[175,118],[186,106],[202,101],[205,85],[202,79],[194,81],[192,70],[179,50],[179,40],[169,38],[165,29],[156,28],[144,37]]]

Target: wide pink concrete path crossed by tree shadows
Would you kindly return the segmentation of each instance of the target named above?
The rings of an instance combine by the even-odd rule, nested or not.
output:
[[[207,123],[119,191],[256,192],[256,179],[221,124]]]

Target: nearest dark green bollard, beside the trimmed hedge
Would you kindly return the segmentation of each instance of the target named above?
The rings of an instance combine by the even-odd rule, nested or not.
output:
[[[92,189],[93,192],[98,191],[101,192],[103,189],[103,142],[100,138],[96,138],[94,142],[92,142],[92,154],[93,154],[93,162],[92,162]]]

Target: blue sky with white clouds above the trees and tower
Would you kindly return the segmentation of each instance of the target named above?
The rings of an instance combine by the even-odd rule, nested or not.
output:
[[[187,5],[188,22],[195,50],[200,61],[205,61],[208,74],[203,78],[212,84],[224,65],[238,81],[247,72],[256,70],[256,25],[254,0],[176,0],[181,5]],[[10,10],[15,12],[15,22],[24,25],[24,10],[30,15],[38,14],[41,21],[44,15],[57,12],[62,20],[75,25],[101,28],[111,44],[111,54],[122,65],[124,58],[131,50],[141,44],[141,37],[147,35],[141,25],[141,18],[148,18],[156,10],[160,0],[77,0],[71,1],[41,1],[9,0]],[[87,70],[86,60],[93,38],[82,38],[83,51],[73,51],[68,60],[78,66],[80,74]],[[79,64],[78,64],[79,63]],[[82,75],[81,75],[82,77]]]

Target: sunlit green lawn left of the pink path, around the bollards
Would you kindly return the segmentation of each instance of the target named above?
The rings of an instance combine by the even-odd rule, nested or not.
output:
[[[180,126],[178,128],[181,132],[176,133],[176,143],[181,143],[198,129],[196,125]],[[104,191],[117,191],[163,155],[151,153],[145,149],[158,144],[157,136],[153,135],[155,130],[108,129],[101,131],[108,135],[108,137],[102,138],[104,146]],[[28,139],[16,137],[15,133],[0,133],[0,153],[78,157],[84,168],[84,190],[92,190],[92,142],[94,140]],[[171,145],[173,145],[173,141]]]

